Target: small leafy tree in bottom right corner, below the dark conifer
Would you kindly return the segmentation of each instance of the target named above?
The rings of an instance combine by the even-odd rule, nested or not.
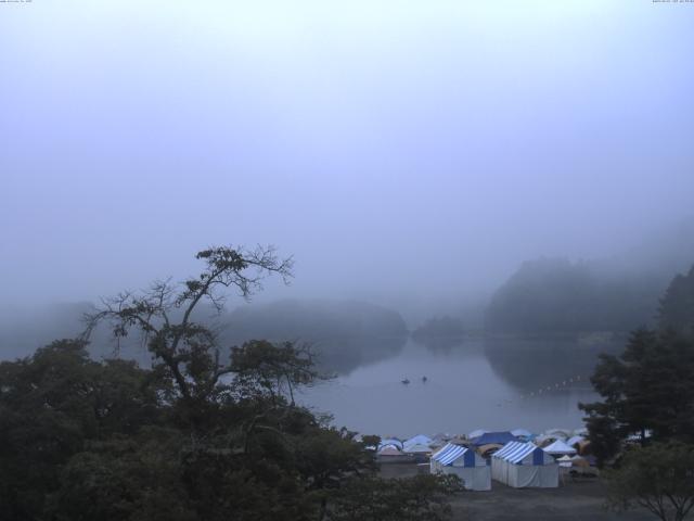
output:
[[[655,443],[627,453],[606,473],[608,501],[619,510],[642,506],[663,521],[682,521],[694,507],[694,446]]]

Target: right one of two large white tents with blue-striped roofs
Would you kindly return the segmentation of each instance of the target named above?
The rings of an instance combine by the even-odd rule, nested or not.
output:
[[[554,458],[534,443],[509,442],[491,456],[491,478],[514,488],[558,486]]]

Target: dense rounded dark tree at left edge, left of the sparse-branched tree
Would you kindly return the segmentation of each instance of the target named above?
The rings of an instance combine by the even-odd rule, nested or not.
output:
[[[38,519],[62,469],[90,440],[160,421],[166,389],[124,360],[90,360],[81,341],[59,341],[0,364],[0,511]]]

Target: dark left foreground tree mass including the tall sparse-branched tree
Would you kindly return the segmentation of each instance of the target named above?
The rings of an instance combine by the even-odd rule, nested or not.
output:
[[[291,260],[270,249],[197,257],[197,278],[121,294],[88,317],[88,332],[105,321],[116,339],[141,333],[150,369],[91,360],[83,339],[0,364],[1,518],[351,519],[372,501],[363,519],[380,519],[383,500],[385,519],[442,519],[448,482],[389,492],[374,475],[372,437],[357,442],[295,403],[321,378],[309,350],[261,340],[224,350],[195,320],[202,302],[222,308],[224,288],[248,297],[262,277],[288,277]]]

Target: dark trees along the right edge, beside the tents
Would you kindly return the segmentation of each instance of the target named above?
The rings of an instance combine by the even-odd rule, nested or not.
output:
[[[694,508],[694,267],[660,300],[657,329],[635,330],[618,355],[602,355],[591,379],[602,399],[581,404],[609,501],[663,521]]]

